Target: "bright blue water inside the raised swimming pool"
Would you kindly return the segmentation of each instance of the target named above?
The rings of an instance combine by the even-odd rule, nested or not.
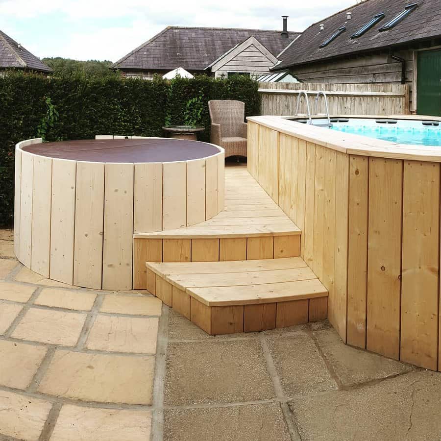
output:
[[[349,119],[344,122],[332,122],[332,130],[354,135],[368,136],[398,144],[441,147],[441,123],[439,125],[424,125],[415,120],[380,120]],[[384,121],[392,121],[385,123]],[[437,122],[424,122],[438,124]]]

